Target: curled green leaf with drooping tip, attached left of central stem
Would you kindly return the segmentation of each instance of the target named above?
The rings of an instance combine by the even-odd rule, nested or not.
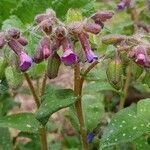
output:
[[[43,102],[36,112],[36,118],[45,125],[49,117],[56,111],[71,106],[76,101],[71,89],[58,89],[48,86]]]

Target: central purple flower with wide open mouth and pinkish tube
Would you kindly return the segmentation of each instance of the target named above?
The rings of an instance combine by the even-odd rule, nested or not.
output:
[[[77,55],[73,52],[72,44],[67,37],[62,40],[62,47],[64,53],[61,57],[61,61],[64,62],[65,65],[75,64],[77,62]]]

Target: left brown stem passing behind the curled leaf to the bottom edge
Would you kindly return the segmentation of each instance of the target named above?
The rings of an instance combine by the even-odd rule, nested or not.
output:
[[[30,88],[30,90],[32,92],[32,95],[33,95],[33,98],[34,98],[35,103],[37,105],[37,108],[39,108],[40,107],[40,99],[39,99],[38,95],[35,92],[35,88],[34,88],[34,86],[32,84],[32,81],[31,81],[31,79],[30,79],[30,77],[29,77],[29,75],[27,73],[24,73],[24,76],[25,76],[25,79],[26,79],[26,81],[28,83],[28,86],[29,86],[29,88]],[[48,150],[46,130],[45,130],[44,127],[43,128],[39,128],[39,136],[40,136],[40,141],[41,141],[41,149],[42,150]]]

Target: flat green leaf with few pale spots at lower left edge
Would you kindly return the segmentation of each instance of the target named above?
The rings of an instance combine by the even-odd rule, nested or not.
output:
[[[15,128],[24,132],[37,132],[41,125],[32,113],[18,113],[0,117],[0,127]]]

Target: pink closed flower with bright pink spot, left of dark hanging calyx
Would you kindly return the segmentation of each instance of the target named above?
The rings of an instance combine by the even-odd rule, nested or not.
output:
[[[47,59],[52,53],[50,41],[48,37],[43,37],[39,42],[37,52],[33,57],[35,63],[40,63],[43,59]]]

